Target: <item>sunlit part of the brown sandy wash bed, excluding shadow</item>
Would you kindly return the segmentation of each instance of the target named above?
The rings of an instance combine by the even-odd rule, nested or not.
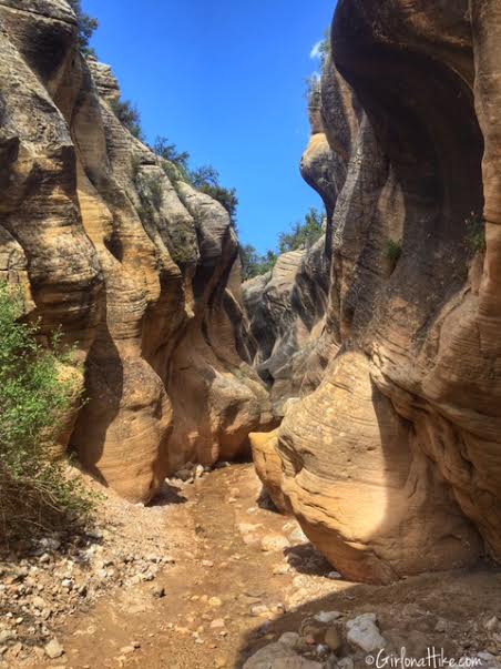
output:
[[[232,465],[168,494],[160,515],[144,509],[157,517],[175,562],[64,626],[58,638],[68,663],[237,667],[247,646],[269,641],[268,618],[282,618],[293,601],[336,591],[331,567],[309,545],[300,548],[306,539],[297,523],[260,508],[259,493],[253,466]]]

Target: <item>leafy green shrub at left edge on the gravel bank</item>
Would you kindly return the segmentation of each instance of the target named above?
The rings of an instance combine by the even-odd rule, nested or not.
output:
[[[71,353],[38,341],[38,324],[21,321],[19,292],[0,283],[0,544],[83,523],[90,498],[54,463],[53,448],[80,389]],[[69,365],[72,367],[69,367]]]

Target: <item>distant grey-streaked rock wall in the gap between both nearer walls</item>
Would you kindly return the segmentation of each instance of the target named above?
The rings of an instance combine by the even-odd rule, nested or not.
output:
[[[243,284],[247,349],[270,388],[277,419],[284,417],[288,399],[318,384],[325,361],[317,343],[325,323],[328,275],[324,235],[311,249],[284,253],[270,273]]]

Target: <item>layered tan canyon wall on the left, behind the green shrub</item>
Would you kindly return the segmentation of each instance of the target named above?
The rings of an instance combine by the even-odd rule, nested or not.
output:
[[[85,363],[70,446],[147,500],[184,462],[249,448],[267,393],[243,362],[237,239],[112,111],[63,0],[0,1],[0,277]],[[241,355],[242,354],[242,355]]]

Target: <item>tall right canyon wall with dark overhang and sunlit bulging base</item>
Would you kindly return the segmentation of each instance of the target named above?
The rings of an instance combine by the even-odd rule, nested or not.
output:
[[[339,0],[304,160],[338,165],[328,365],[276,448],[348,578],[501,559],[500,103],[499,3]]]

